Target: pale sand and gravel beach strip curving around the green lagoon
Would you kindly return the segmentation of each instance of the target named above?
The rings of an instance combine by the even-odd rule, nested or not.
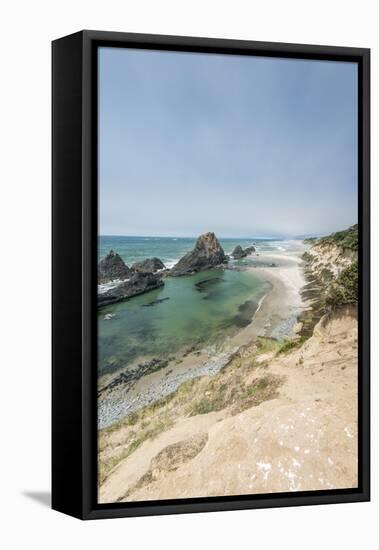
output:
[[[175,358],[159,371],[139,378],[132,387],[121,386],[109,396],[99,398],[99,429],[109,427],[144,406],[166,397],[187,380],[216,374],[241,346],[251,343],[256,337],[282,339],[295,336],[292,328],[298,315],[306,307],[300,294],[305,278],[299,255],[299,251],[262,254],[265,261],[279,260],[289,265],[244,266],[246,271],[258,275],[262,282],[271,285],[260,299],[251,323],[234,336],[228,336],[221,352],[211,346],[181,357],[180,362]]]

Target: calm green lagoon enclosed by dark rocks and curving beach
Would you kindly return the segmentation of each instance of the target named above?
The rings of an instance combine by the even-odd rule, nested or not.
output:
[[[247,272],[214,269],[165,279],[165,286],[99,313],[99,374],[222,345],[251,321],[267,286]],[[106,319],[107,314],[114,317]]]

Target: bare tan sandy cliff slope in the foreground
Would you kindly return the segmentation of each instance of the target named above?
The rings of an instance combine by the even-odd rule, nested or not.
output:
[[[298,349],[263,351],[255,344],[244,347],[226,369],[230,378],[249,372],[246,387],[275,381],[262,402],[244,409],[235,406],[236,397],[225,408],[195,415],[178,409],[172,427],[144,441],[109,473],[100,501],[354,487],[354,309],[324,317]],[[199,394],[188,397],[187,405],[193,398]],[[104,434],[103,453],[119,450],[128,437],[128,428],[123,430]]]

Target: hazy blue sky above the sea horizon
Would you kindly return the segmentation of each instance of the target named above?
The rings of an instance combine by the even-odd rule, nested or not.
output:
[[[100,234],[292,237],[356,221],[356,64],[99,50]]]

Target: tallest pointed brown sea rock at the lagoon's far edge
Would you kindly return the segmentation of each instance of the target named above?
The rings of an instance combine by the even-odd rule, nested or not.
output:
[[[195,248],[181,258],[170,275],[179,277],[227,263],[228,258],[214,233],[205,233],[197,239]]]

